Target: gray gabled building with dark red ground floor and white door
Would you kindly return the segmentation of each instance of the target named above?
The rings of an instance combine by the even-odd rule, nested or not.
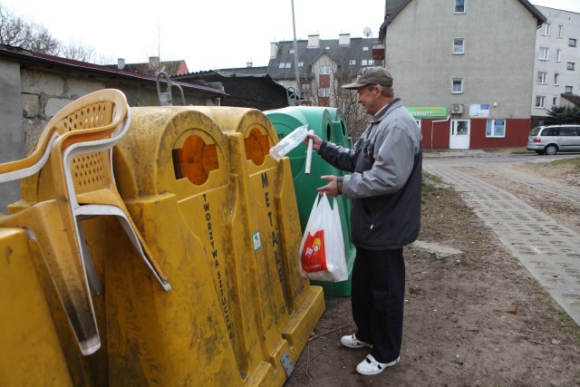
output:
[[[536,31],[526,0],[387,0],[385,67],[426,149],[523,146]]]

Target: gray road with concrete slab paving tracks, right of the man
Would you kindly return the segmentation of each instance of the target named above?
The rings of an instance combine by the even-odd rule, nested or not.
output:
[[[460,192],[469,208],[493,229],[513,256],[536,277],[567,314],[580,325],[580,235],[518,199],[505,189],[463,173],[460,167],[482,169],[503,179],[527,184],[542,195],[559,195],[578,206],[580,188],[557,181],[533,179],[507,169],[508,164],[546,162],[578,157],[578,154],[539,156],[494,154],[482,150],[426,152],[423,169],[439,176]],[[574,204],[572,204],[574,203]]]

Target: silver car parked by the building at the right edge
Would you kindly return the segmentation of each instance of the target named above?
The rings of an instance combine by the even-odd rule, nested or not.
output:
[[[555,155],[558,151],[580,151],[580,125],[536,126],[529,132],[527,150]]]

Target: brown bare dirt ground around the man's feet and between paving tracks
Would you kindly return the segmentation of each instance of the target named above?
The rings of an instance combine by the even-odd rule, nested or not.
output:
[[[579,185],[578,167],[526,163],[518,171]],[[536,191],[486,175],[528,204]],[[540,210],[580,232],[580,207],[560,198]],[[375,376],[368,353],[340,344],[354,324],[350,297],[326,310],[285,386],[580,385],[580,327],[501,245],[453,189],[424,187],[420,241],[460,250],[441,257],[405,248],[407,294],[401,362]]]

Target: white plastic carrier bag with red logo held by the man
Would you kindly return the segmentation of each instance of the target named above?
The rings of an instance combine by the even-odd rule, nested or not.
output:
[[[314,198],[300,245],[300,274],[326,282],[348,279],[338,206],[334,199],[331,208],[326,194]]]

